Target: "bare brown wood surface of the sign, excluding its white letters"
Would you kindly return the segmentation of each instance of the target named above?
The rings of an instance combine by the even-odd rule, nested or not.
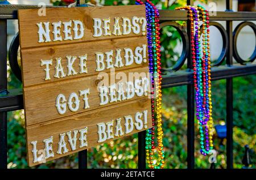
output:
[[[40,164],[39,162],[33,162],[32,145],[31,142],[37,141],[38,151],[44,149],[44,139],[48,139],[53,136],[53,152],[55,157],[48,158],[47,161],[54,160],[59,157],[71,155],[82,151],[86,148],[94,147],[98,145],[98,123],[106,123],[112,121],[112,119],[122,118],[121,125],[124,131],[125,120],[124,116],[131,115],[134,119],[134,115],[137,112],[143,112],[147,110],[147,128],[151,127],[151,101],[147,96],[138,97],[135,96],[130,100],[118,101],[100,106],[100,92],[98,91],[98,83],[100,79],[99,74],[103,75],[104,72],[106,86],[118,83],[119,76],[126,75],[128,78],[130,73],[144,73],[144,76],[148,73],[148,62],[142,62],[137,65],[133,63],[130,66],[124,66],[115,68],[114,72],[110,70],[104,70],[100,73],[96,71],[96,54],[105,53],[113,50],[113,62],[115,61],[115,50],[122,49],[121,57],[122,62],[125,63],[124,48],[130,48],[135,50],[137,46],[147,45],[147,38],[142,31],[138,35],[131,32],[129,35],[121,36],[101,36],[93,37],[93,18],[108,19],[110,18],[110,31],[113,31],[114,19],[119,18],[119,25],[122,31],[122,18],[129,18],[130,20],[137,16],[138,18],[146,18],[144,6],[109,6],[109,7],[76,7],[76,8],[47,8],[46,16],[39,16],[38,10],[19,10],[19,38],[20,38],[20,50],[22,57],[22,78],[23,78],[23,99],[24,110],[26,118],[26,133],[27,133],[27,153],[28,153],[28,165],[34,166]],[[69,20],[80,20],[84,26],[84,37],[79,40],[68,41],[51,41],[39,43],[38,26],[40,22],[69,22]],[[142,29],[142,24],[140,24]],[[73,27],[72,27],[73,28]],[[64,36],[63,27],[61,27],[61,36]],[[53,39],[52,33],[53,27],[50,25],[50,36]],[[72,36],[73,36],[73,31]],[[61,65],[64,67],[64,72],[67,74],[67,59],[69,56],[79,57],[87,54],[87,69],[88,72],[84,74],[77,74],[71,76],[65,76],[64,78],[54,78],[56,58],[61,58]],[[146,54],[148,55],[148,54]],[[106,58],[106,56],[105,56]],[[50,80],[45,79],[45,66],[41,66],[41,60],[53,59],[50,66]],[[148,58],[147,58],[148,59]],[[105,59],[104,59],[105,60]],[[76,72],[79,72],[79,58],[76,59],[73,67]],[[110,76],[110,74],[112,76]],[[115,78],[116,77],[116,78]],[[122,79],[122,78],[121,78]],[[134,82],[137,78],[122,79],[123,82]],[[90,89],[89,109],[84,109],[83,97],[79,96],[80,90]],[[56,109],[56,98],[58,95],[63,94],[68,100],[71,93],[76,93],[79,96],[80,108],[77,112],[71,112],[67,107],[67,112],[63,115],[59,114]],[[125,93],[126,95],[126,93]],[[68,105],[67,105],[68,106]],[[114,121],[114,126],[115,126]],[[75,151],[71,151],[71,147],[68,143],[67,136],[65,141],[69,152],[59,155],[56,153],[58,148],[58,142],[60,134],[67,133],[73,130],[81,130],[88,127],[87,141],[88,147],[78,148]],[[114,128],[113,128],[114,129]],[[143,127],[142,130],[146,130]],[[131,135],[139,132],[135,129],[129,134]],[[79,134],[78,137],[79,139]],[[121,137],[116,137],[122,138]],[[111,139],[113,140],[113,139]],[[106,141],[109,142],[110,140]],[[77,147],[79,140],[77,140]]]

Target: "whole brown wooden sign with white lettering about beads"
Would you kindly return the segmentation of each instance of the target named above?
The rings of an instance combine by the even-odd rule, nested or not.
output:
[[[28,165],[152,127],[144,6],[18,16]]]

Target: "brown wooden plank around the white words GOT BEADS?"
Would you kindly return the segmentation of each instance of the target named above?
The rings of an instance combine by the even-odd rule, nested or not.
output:
[[[146,76],[148,67],[143,68],[133,68],[132,70],[126,70],[122,71],[122,74],[119,75],[126,75],[128,78],[127,80],[123,79],[124,82],[131,81],[134,82],[134,78],[129,80],[129,73],[130,75],[133,75],[135,73],[141,74],[143,76]],[[114,83],[118,83],[120,80],[115,79],[115,77],[118,77],[118,74],[106,74],[108,77],[104,80],[106,84],[112,85]],[[26,125],[34,125],[36,123],[43,123],[47,122],[52,119],[56,118],[64,118],[68,115],[75,115],[77,113],[81,112],[88,112],[90,110],[101,108],[100,105],[100,92],[98,91],[98,83],[100,82],[99,79],[97,79],[97,75],[85,77],[85,78],[78,78],[78,79],[69,79],[69,80],[63,80],[56,83],[48,83],[43,85],[36,85],[33,87],[24,88],[24,102],[25,102],[25,115],[26,115]],[[111,83],[111,81],[113,81]],[[111,83],[111,84],[110,84]],[[109,86],[108,85],[108,86]],[[84,101],[82,100],[83,97],[79,96],[79,91],[83,91],[85,89],[90,89],[90,95],[88,95],[89,98],[89,109],[84,109]],[[56,109],[56,98],[60,94],[63,94],[68,100],[69,95],[71,93],[75,92],[79,98],[79,110],[77,112],[72,112],[71,110],[67,109],[67,112],[63,115],[59,114]],[[126,92],[125,92],[126,95]],[[131,98],[130,100],[134,100],[138,97],[135,93],[135,96]],[[123,102],[126,102],[129,100],[124,101],[117,101],[108,103],[104,106],[110,106],[114,104],[120,104]]]

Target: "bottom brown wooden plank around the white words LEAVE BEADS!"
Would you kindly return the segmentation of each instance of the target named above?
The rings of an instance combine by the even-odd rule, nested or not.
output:
[[[124,116],[131,115],[133,117],[134,121],[134,115],[137,112],[143,112],[144,110],[147,110],[147,128],[152,127],[152,121],[151,121],[151,109],[150,109],[150,101],[148,101],[148,98],[143,98],[142,100],[135,100],[135,101],[130,101],[127,102],[126,104],[123,105],[114,105],[111,108],[105,108],[104,110],[98,112],[92,111],[90,113],[81,113],[78,115],[74,115],[72,117],[68,117],[65,119],[61,119],[61,121],[54,121],[54,122],[49,122],[49,123],[42,123],[40,125],[36,126],[30,126],[27,127],[27,152],[28,152],[28,165],[34,166],[37,164],[40,164],[39,162],[33,163],[33,155],[32,155],[32,144],[31,142],[37,141],[37,149],[40,151],[40,149],[44,149],[44,143],[43,140],[50,138],[53,136],[53,152],[55,153],[54,157],[49,157],[46,161],[51,161],[59,157],[67,156],[75,152],[82,151],[84,149],[94,147],[98,144],[98,123],[106,123],[114,120],[114,126],[116,125],[115,119],[117,118],[122,118],[121,120],[121,126],[122,126],[122,131],[125,133],[125,119]],[[135,121],[134,121],[135,122]],[[78,147],[75,151],[72,151],[71,146],[68,142],[68,137],[65,135],[65,142],[67,143],[67,148],[69,151],[65,154],[59,155],[57,154],[58,150],[58,142],[60,139],[60,134],[67,133],[68,131],[73,131],[73,130],[81,130],[82,128],[88,127],[88,133],[87,133],[87,142],[88,142],[88,147],[83,147],[79,148],[80,146],[80,134],[77,134],[77,143],[76,147]],[[139,131],[146,130],[143,126],[142,130],[136,130],[134,127],[134,131],[129,133],[129,134],[124,134],[124,136],[128,136],[131,134],[134,134]],[[115,128],[113,128],[113,132],[115,133]],[[115,136],[114,139],[118,139],[120,137]],[[111,140],[114,139],[109,139],[106,140],[105,142],[110,142]],[[104,142],[104,143],[105,143]],[[39,152],[40,153],[40,152]]]

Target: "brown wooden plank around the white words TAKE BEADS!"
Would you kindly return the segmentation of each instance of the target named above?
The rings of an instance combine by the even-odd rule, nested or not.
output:
[[[127,41],[129,43],[127,43]],[[73,79],[79,77],[85,77],[90,75],[96,75],[99,72],[96,70],[96,53],[104,53],[104,63],[106,66],[106,52],[113,50],[113,63],[115,63],[115,55],[117,54],[117,49],[121,49],[122,62],[125,65],[125,50],[124,48],[130,48],[135,56],[135,48],[138,46],[142,48],[142,45],[147,45],[147,40],[141,37],[131,37],[124,41],[121,39],[113,39],[111,41],[98,41],[98,42],[82,42],[81,44],[68,44],[68,45],[57,45],[57,46],[47,46],[35,49],[22,49],[22,65],[23,65],[23,86],[27,87],[30,85],[49,83],[49,82],[59,82],[63,79]],[[87,54],[86,67],[88,72],[80,74],[80,55]],[[141,53],[143,54],[143,52]],[[64,68],[64,73],[67,75],[67,55],[77,57],[76,61],[73,63],[73,68],[77,72],[76,75],[65,76],[65,78],[55,78],[55,67],[56,58],[61,58],[61,64]],[[147,57],[147,48],[146,48]],[[46,66],[41,66],[42,60],[52,59],[52,65],[49,66],[49,75],[51,79],[44,80],[46,77],[46,72],[44,68]],[[123,66],[115,68],[115,71],[126,70],[128,68],[134,67],[146,67],[148,62],[143,62],[141,64],[133,63],[130,66]],[[104,70],[104,72],[110,72],[110,69]]]

